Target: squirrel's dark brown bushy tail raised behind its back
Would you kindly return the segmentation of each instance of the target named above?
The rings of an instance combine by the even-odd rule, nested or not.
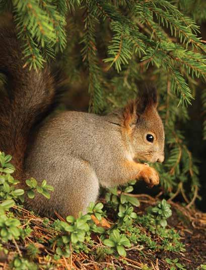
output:
[[[23,68],[15,27],[1,17],[0,22],[0,72],[8,78],[6,91],[0,94],[0,151],[13,156],[15,176],[22,178],[31,130],[50,110],[58,87],[48,67],[39,72]]]

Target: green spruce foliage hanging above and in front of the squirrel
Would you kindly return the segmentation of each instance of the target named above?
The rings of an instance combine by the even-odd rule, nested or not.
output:
[[[8,10],[24,40],[25,65],[41,68],[62,52],[71,82],[86,74],[91,112],[123,106],[144,81],[157,85],[166,133],[165,163],[155,165],[162,187],[187,203],[196,198],[198,167],[181,127],[206,74],[196,24],[206,20],[205,1],[0,0],[0,12]],[[202,104],[205,111],[205,91]]]

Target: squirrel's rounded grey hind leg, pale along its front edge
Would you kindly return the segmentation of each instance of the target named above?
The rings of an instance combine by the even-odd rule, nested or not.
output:
[[[40,161],[37,159],[37,162]],[[68,156],[56,164],[46,162],[42,165],[40,162],[37,166],[32,163],[29,174],[37,179],[46,179],[54,192],[49,200],[36,194],[33,200],[27,200],[27,205],[43,215],[55,216],[56,212],[63,218],[68,215],[77,218],[80,211],[85,214],[89,203],[97,200],[97,175],[89,162],[79,157]]]

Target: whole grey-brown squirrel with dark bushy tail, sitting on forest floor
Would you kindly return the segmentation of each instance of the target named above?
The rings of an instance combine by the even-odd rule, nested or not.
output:
[[[50,200],[36,194],[27,200],[29,207],[46,215],[56,211],[77,217],[97,200],[100,186],[123,185],[134,178],[159,184],[154,168],[135,161],[164,160],[155,89],[106,116],[64,111],[45,120],[63,83],[48,65],[38,72],[23,67],[14,25],[1,23],[0,28],[0,72],[8,77],[6,93],[0,96],[0,150],[13,156],[22,188],[31,176],[54,187]]]

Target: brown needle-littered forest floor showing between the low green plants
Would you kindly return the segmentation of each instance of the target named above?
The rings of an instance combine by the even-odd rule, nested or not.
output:
[[[103,200],[102,200],[103,201]],[[139,195],[140,207],[135,208],[138,215],[143,215],[146,208],[155,205],[157,200],[149,195]],[[133,246],[126,249],[126,257],[115,257],[113,255],[99,254],[97,249],[103,246],[100,238],[94,234],[92,239],[94,245],[90,247],[89,253],[76,253],[73,252],[68,258],[61,257],[58,260],[53,258],[54,246],[51,247],[49,240],[53,237],[53,232],[46,226],[43,219],[35,216],[33,213],[22,209],[22,220],[26,219],[32,228],[30,237],[26,237],[24,242],[16,244],[6,243],[5,247],[9,250],[8,255],[0,252],[0,269],[10,269],[9,263],[12,261],[14,254],[19,252],[20,256],[27,256],[28,244],[34,243],[40,250],[34,258],[35,263],[39,269],[50,270],[169,270],[169,269],[206,269],[201,268],[201,264],[206,265],[206,213],[201,213],[196,210],[190,210],[182,205],[170,202],[172,206],[172,216],[168,219],[168,226],[175,228],[181,236],[181,242],[185,245],[184,252],[171,252],[171,251],[154,251],[145,248],[143,245]],[[112,222],[112,213],[108,215],[108,223]],[[39,241],[41,239],[41,241]],[[158,236],[156,241],[158,242]],[[178,268],[171,268],[166,262],[166,258],[172,260],[178,258],[180,263]],[[182,267],[182,268],[181,268]],[[26,269],[26,268],[25,268]],[[32,269],[31,269],[32,270]]]

